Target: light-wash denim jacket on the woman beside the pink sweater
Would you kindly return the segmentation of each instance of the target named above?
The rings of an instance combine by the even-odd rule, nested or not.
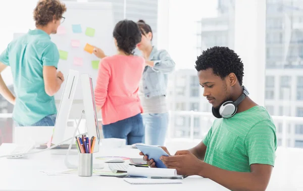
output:
[[[142,83],[145,98],[166,95],[168,74],[175,70],[175,62],[166,50],[157,50],[153,46],[148,60],[154,61],[154,66],[145,66]]]

